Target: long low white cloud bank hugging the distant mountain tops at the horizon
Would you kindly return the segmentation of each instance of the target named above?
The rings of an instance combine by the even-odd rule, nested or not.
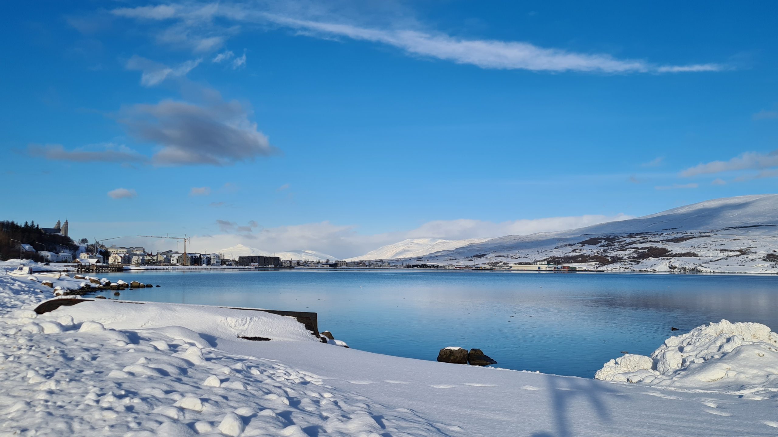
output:
[[[196,236],[193,244],[202,251],[216,251],[225,247],[244,244],[269,252],[284,250],[318,250],[347,258],[363,255],[391,243],[408,238],[467,239],[506,235],[526,235],[534,232],[552,232],[574,229],[601,222],[624,220],[630,215],[581,215],[573,217],[538,218],[508,222],[487,222],[483,220],[459,219],[427,222],[417,229],[401,232],[386,232],[362,235],[353,225],[334,225],[330,222],[307,223],[304,225],[279,226],[253,229],[239,229],[241,226],[229,220],[217,220],[216,225],[223,232],[219,235]],[[256,223],[249,222],[249,227]],[[247,232],[249,231],[249,232]],[[252,232],[253,231],[253,232]]]

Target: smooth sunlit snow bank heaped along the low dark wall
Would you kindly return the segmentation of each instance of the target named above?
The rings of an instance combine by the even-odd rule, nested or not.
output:
[[[39,318],[59,320],[62,316],[72,317],[74,323],[93,321],[117,330],[165,328],[168,331],[178,330],[178,335],[186,335],[180,332],[183,330],[193,333],[181,337],[184,339],[195,335],[201,338],[264,337],[318,341],[293,317],[216,306],[95,299],[73,306],[60,306],[50,313],[41,314]],[[171,332],[171,335],[174,334]]]

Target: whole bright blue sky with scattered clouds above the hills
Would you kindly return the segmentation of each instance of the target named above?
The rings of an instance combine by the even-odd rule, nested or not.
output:
[[[771,2],[5,8],[3,218],[74,236],[351,257],[776,192]]]

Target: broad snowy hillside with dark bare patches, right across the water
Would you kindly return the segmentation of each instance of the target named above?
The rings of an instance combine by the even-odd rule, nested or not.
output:
[[[778,273],[778,194],[703,201],[586,228],[503,236],[414,257],[436,264],[548,260],[607,271]]]

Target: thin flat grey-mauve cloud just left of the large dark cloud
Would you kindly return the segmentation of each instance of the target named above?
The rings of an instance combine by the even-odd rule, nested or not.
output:
[[[31,156],[39,156],[52,161],[72,161],[74,163],[145,163],[149,161],[147,156],[135,152],[126,145],[114,143],[88,145],[71,150],[65,149],[61,144],[30,144],[27,146],[27,152]]]

